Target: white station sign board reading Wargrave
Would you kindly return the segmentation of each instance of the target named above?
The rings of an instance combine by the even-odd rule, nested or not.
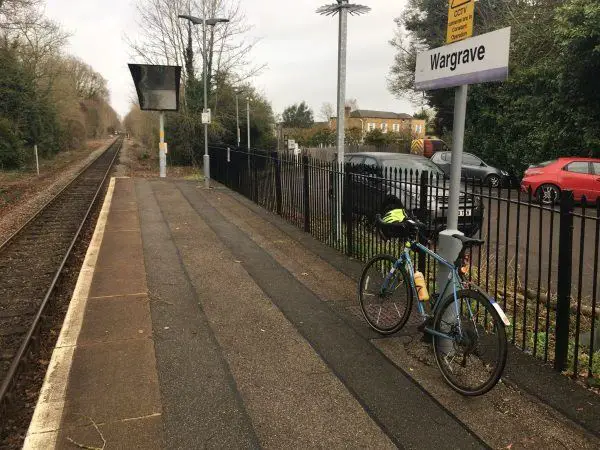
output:
[[[415,89],[440,89],[508,77],[510,27],[417,55]]]

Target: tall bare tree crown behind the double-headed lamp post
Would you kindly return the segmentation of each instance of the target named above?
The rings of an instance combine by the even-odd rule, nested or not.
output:
[[[197,17],[223,17],[228,23],[207,27],[207,82],[215,74],[234,74],[241,81],[255,75],[264,66],[252,65],[250,52],[256,41],[245,36],[251,27],[240,7],[240,0],[138,0],[139,38],[128,38],[134,57],[151,64],[184,66],[184,77],[202,71],[202,26],[190,27],[179,14]],[[193,59],[187,49],[191,44],[201,58]],[[187,64],[186,64],[187,63]]]

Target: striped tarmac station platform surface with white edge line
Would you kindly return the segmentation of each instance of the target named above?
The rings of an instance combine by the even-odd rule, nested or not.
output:
[[[466,399],[414,324],[371,332],[359,267],[226,188],[111,180],[24,448],[600,448],[569,380]]]

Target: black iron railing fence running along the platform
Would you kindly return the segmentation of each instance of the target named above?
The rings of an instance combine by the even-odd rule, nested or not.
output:
[[[385,241],[373,220],[402,204],[427,224],[430,245],[444,229],[448,181],[435,169],[350,166],[308,156],[212,147],[212,177],[349,257],[399,254],[402,242]],[[342,226],[336,227],[334,186],[343,186]],[[471,254],[468,277],[511,317],[508,335],[523,351],[574,378],[600,377],[597,318],[600,198],[545,205],[534,192],[492,188],[463,180],[459,230],[486,243]],[[417,265],[433,283],[436,266]]]

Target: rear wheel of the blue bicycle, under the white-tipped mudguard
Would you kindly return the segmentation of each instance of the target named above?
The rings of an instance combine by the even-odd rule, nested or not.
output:
[[[482,293],[463,289],[444,299],[433,322],[435,359],[450,386],[463,395],[482,395],[492,389],[506,364],[504,324]]]

